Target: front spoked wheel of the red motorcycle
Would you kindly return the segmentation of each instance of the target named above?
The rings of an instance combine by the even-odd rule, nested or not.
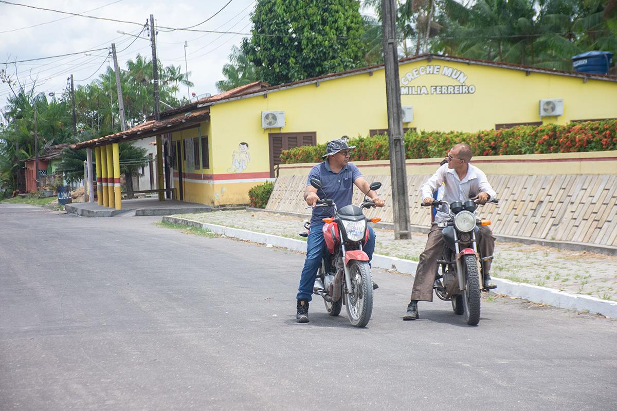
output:
[[[353,261],[349,266],[351,293],[346,293],[347,314],[354,327],[366,327],[373,313],[373,279],[367,261]]]

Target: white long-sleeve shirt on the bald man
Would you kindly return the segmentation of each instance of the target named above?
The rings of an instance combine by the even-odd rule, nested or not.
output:
[[[445,183],[445,184],[444,184]],[[458,174],[454,169],[448,168],[447,163],[439,167],[437,172],[433,174],[427,181],[420,187],[420,193],[422,200],[424,198],[433,198],[433,193],[444,184],[443,198],[448,203],[454,201],[469,200],[471,197],[475,197],[478,193],[486,192],[489,198],[497,197],[497,193],[491,187],[491,184],[486,178],[486,174],[476,166],[468,164],[467,174],[463,179],[458,178]],[[435,216],[435,222],[446,221],[450,218],[450,214],[447,213],[445,205],[437,208],[437,214]]]

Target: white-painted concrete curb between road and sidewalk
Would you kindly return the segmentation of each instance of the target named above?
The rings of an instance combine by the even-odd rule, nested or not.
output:
[[[214,234],[226,237],[249,240],[260,244],[270,244],[277,247],[289,248],[295,251],[306,251],[306,242],[293,238],[280,237],[278,235],[263,234],[249,230],[233,229],[231,227],[217,226],[207,222],[194,221],[185,218],[164,216],[163,221],[185,226],[210,230]],[[371,264],[386,270],[396,270],[406,274],[415,274],[418,263],[401,258],[373,254]],[[617,318],[617,301],[608,301],[587,295],[571,294],[553,288],[539,287],[537,285],[516,283],[506,279],[493,277],[497,284],[497,293],[517,298],[528,299],[534,303],[548,304],[550,306],[572,309],[576,311],[589,311],[593,314],[602,314],[606,317]]]

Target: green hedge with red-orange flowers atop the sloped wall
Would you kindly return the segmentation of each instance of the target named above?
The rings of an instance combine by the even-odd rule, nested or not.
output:
[[[387,136],[358,136],[348,142],[356,146],[352,150],[352,161],[390,158]],[[445,157],[447,150],[457,143],[469,144],[476,156],[617,150],[617,120],[477,132],[408,131],[405,133],[405,157]],[[281,163],[318,163],[325,152],[326,144],[296,147],[281,153]]]

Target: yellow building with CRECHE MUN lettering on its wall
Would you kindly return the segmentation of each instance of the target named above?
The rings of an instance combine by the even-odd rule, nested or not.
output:
[[[478,131],[617,117],[617,76],[440,55],[400,60],[399,76],[406,129]],[[193,121],[183,123],[184,116]],[[131,129],[102,142],[165,133],[178,198],[244,204],[252,186],[275,177],[281,150],[386,130],[384,67],[273,87],[253,83],[161,118],[139,126],[141,137]]]

